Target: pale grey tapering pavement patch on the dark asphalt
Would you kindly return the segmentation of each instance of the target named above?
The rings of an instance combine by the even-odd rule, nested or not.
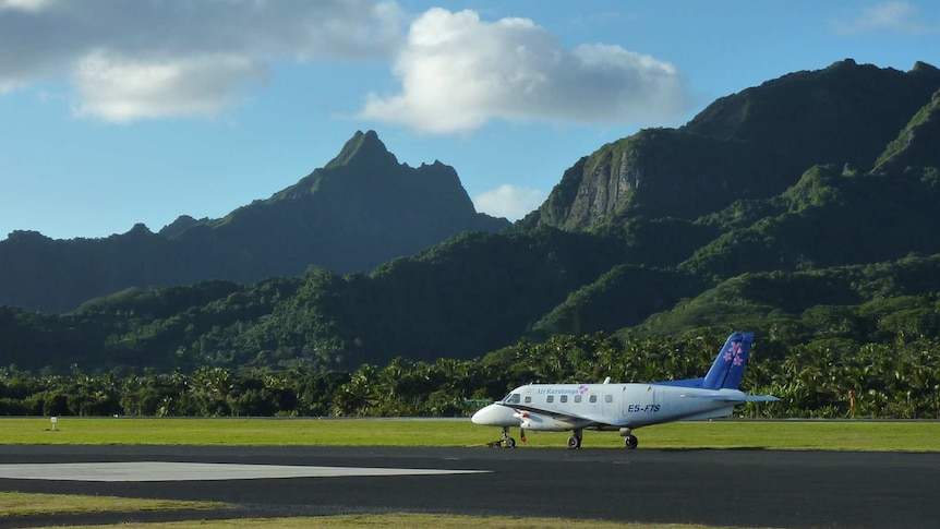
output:
[[[302,467],[217,462],[64,462],[0,465],[0,479],[51,481],[222,481],[352,476],[439,476],[489,470]]]

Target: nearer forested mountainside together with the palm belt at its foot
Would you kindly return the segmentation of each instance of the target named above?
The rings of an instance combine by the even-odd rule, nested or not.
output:
[[[110,406],[138,395],[123,412],[158,412],[133,400],[149,385],[169,414],[459,413],[533,380],[698,376],[752,329],[746,385],[784,402],[750,414],[937,417],[938,112],[924,63],[786,75],[602,146],[510,230],[367,274],[7,308],[7,384],[110,380]],[[239,404],[243,384],[266,407]],[[17,395],[28,412],[51,398]]]

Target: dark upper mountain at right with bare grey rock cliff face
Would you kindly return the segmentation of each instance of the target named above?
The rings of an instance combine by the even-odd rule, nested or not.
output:
[[[591,230],[625,218],[695,220],[738,199],[766,199],[816,164],[867,170],[940,88],[940,71],[851,59],[718,99],[679,129],[650,129],[573,166],[520,223]],[[940,149],[937,149],[940,152]]]

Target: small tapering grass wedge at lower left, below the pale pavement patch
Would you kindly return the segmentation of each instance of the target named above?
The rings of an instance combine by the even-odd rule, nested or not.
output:
[[[133,513],[138,510],[213,509],[226,506],[226,504],[218,502],[0,492],[0,518],[87,513]]]

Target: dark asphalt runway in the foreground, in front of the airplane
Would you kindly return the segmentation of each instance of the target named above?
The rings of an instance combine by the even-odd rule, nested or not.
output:
[[[132,465],[76,465],[104,462]],[[76,473],[69,478],[67,469]],[[272,471],[281,473],[265,476]],[[107,479],[82,479],[89,472]],[[125,477],[112,479],[113,472]],[[0,446],[0,491],[202,500],[236,507],[0,517],[0,527],[44,520],[409,512],[738,527],[921,528],[940,519],[938,478],[940,454],[10,445]]]

